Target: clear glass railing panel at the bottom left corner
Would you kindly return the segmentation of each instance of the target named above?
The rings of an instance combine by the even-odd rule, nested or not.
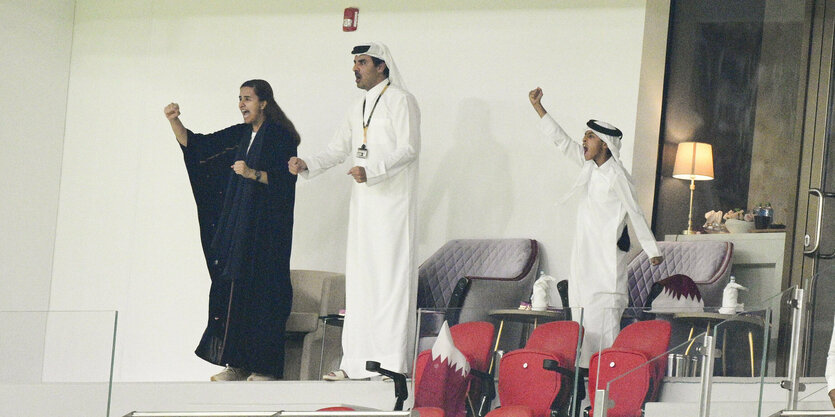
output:
[[[0,415],[110,412],[115,311],[0,312]]]

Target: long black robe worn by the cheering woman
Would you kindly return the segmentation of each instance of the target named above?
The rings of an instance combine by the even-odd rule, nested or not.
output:
[[[197,356],[217,365],[282,377],[284,330],[293,290],[290,249],[296,177],[287,161],[296,143],[283,127],[265,122],[249,153],[252,128],[239,124],[201,135],[182,147],[212,285],[209,319]],[[230,168],[245,160],[269,184]]]

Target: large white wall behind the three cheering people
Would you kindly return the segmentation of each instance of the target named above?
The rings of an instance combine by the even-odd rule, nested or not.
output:
[[[163,106],[217,130],[240,121],[240,83],[264,78],[300,153],[317,152],[361,96],[349,51],[365,40],[388,43],[421,106],[419,258],[452,238],[529,237],[567,274],[575,209],[555,202],[578,169],[538,133],[527,92],[543,87],[577,137],[590,117],[618,125],[631,161],[645,2],[398,3],[78,2],[50,308],[120,311],[117,380],[214,371],[192,354],[209,282]],[[343,33],[350,5],[359,30]],[[299,182],[294,268],[343,270],[344,171]]]

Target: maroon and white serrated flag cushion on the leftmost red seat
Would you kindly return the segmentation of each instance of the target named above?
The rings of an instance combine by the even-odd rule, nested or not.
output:
[[[415,388],[415,408],[438,407],[446,417],[465,417],[469,381],[470,364],[453,344],[449,324],[444,322]]]

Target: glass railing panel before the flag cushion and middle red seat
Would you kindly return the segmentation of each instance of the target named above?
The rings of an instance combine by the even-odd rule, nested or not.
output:
[[[572,316],[576,321],[571,321]],[[456,348],[468,357],[471,370],[476,371],[467,395],[469,413],[484,415],[503,404],[539,404],[541,410],[535,414],[542,415],[550,414],[552,405],[571,412],[581,381],[576,375],[582,316],[580,308],[421,309],[410,397],[417,401],[415,393],[428,383],[418,375],[424,372],[425,361],[442,364],[444,358],[433,355],[432,349],[436,344],[439,349],[442,346],[438,335],[446,321]],[[473,325],[474,322],[482,325]],[[552,361],[548,362],[549,369],[543,368],[547,361]],[[489,386],[484,385],[485,380]],[[536,389],[530,381],[537,381]]]

